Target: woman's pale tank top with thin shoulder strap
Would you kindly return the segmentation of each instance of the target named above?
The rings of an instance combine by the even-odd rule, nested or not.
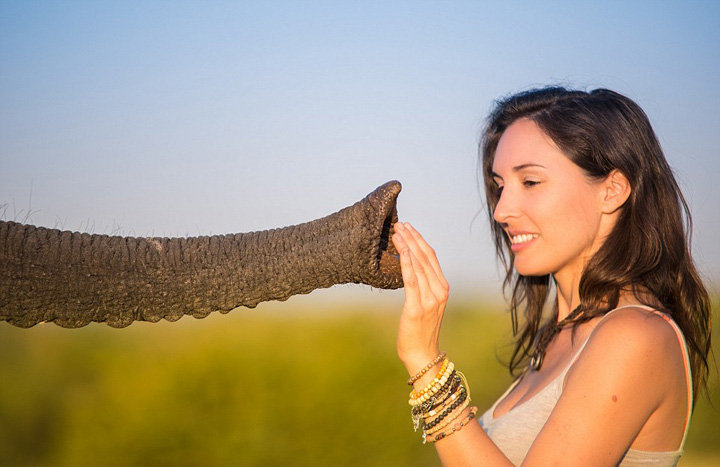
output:
[[[630,306],[645,308],[649,311],[652,311],[653,313],[662,316],[665,321],[667,321],[675,330],[675,333],[677,334],[678,340],[682,347],[683,359],[685,362],[685,374],[687,377],[688,387],[688,415],[685,422],[685,434],[683,435],[680,447],[676,451],[656,452],[628,449],[619,465],[624,467],[651,465],[674,466],[677,465],[683,453],[683,446],[685,445],[685,439],[687,438],[688,428],[690,426],[690,412],[692,409],[692,377],[690,374],[690,360],[688,358],[687,344],[685,343],[685,337],[683,336],[682,331],[680,331],[680,328],[677,326],[677,324],[675,324],[675,322],[672,321],[672,319],[670,319],[664,313],[660,313],[659,311],[653,310],[650,307],[645,307],[641,305],[628,305],[626,307],[623,306],[615,308],[615,310],[611,310],[606,313],[605,316],[609,315],[613,311],[620,310],[622,308],[628,308]],[[603,318],[601,319],[604,319],[605,316],[603,316]],[[592,332],[590,332],[590,335],[592,335]],[[488,411],[485,412],[482,417],[480,417],[480,426],[483,427],[488,436],[490,436],[490,439],[493,440],[493,442],[500,448],[500,450],[508,457],[508,459],[510,459],[513,464],[520,465],[525,459],[525,456],[530,450],[530,446],[532,446],[532,443],[535,441],[535,438],[540,433],[540,430],[542,430],[545,422],[547,422],[548,418],[550,417],[550,413],[553,411],[555,405],[560,399],[560,395],[562,394],[563,390],[563,383],[565,382],[565,376],[567,375],[568,370],[572,367],[573,363],[575,363],[575,360],[585,348],[585,344],[587,344],[590,335],[588,335],[588,338],[585,340],[585,342],[583,342],[580,349],[578,349],[578,351],[575,353],[573,358],[570,360],[570,363],[568,363],[568,365],[557,376],[557,378],[552,380],[547,386],[545,386],[532,398],[528,399],[527,401],[523,402],[518,406],[513,407],[503,415],[497,418],[493,418],[495,408],[500,403],[500,401],[505,399],[505,397],[510,393],[510,391],[515,388],[517,383],[520,381],[520,378],[518,378],[512,385],[510,385],[508,390],[505,391],[505,393],[500,396],[497,401],[495,401],[492,407],[490,407],[490,409],[488,409]]]

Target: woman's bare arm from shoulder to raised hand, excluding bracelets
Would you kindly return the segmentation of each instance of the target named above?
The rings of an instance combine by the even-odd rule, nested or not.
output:
[[[415,374],[438,354],[449,287],[422,236],[409,224],[396,224],[395,231],[405,284],[397,349],[408,373]],[[673,349],[678,354],[674,331],[662,319],[639,313],[617,313],[598,325],[525,464],[616,464],[663,403],[668,392],[664,388],[677,387],[683,370],[666,371],[668,364],[678,370],[678,359],[666,358]],[[416,388],[432,380],[433,372],[428,373]],[[511,465],[478,423],[468,424],[436,447],[443,465]]]

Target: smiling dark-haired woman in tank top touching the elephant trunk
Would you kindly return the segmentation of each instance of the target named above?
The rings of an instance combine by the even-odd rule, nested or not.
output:
[[[447,465],[675,465],[706,384],[710,306],[647,116],[604,89],[531,90],[497,103],[481,152],[519,376],[470,422],[467,382],[439,353],[448,284],[398,223],[397,347],[424,440]]]

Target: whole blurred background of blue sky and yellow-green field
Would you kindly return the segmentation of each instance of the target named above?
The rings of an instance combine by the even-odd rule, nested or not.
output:
[[[400,180],[400,217],[451,283],[443,346],[487,407],[511,337],[476,174],[493,101],[545,84],[637,101],[717,296],[719,23],[710,1],[0,0],[0,218],[247,232]],[[0,323],[0,464],[433,465],[394,354],[402,297],[340,286],[124,330]],[[720,462],[718,426],[699,402],[684,464]]]

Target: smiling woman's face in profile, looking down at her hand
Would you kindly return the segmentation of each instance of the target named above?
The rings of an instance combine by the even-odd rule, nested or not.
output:
[[[502,190],[494,218],[511,239],[518,273],[579,279],[603,240],[602,181],[590,180],[527,119],[500,138],[493,179]]]

